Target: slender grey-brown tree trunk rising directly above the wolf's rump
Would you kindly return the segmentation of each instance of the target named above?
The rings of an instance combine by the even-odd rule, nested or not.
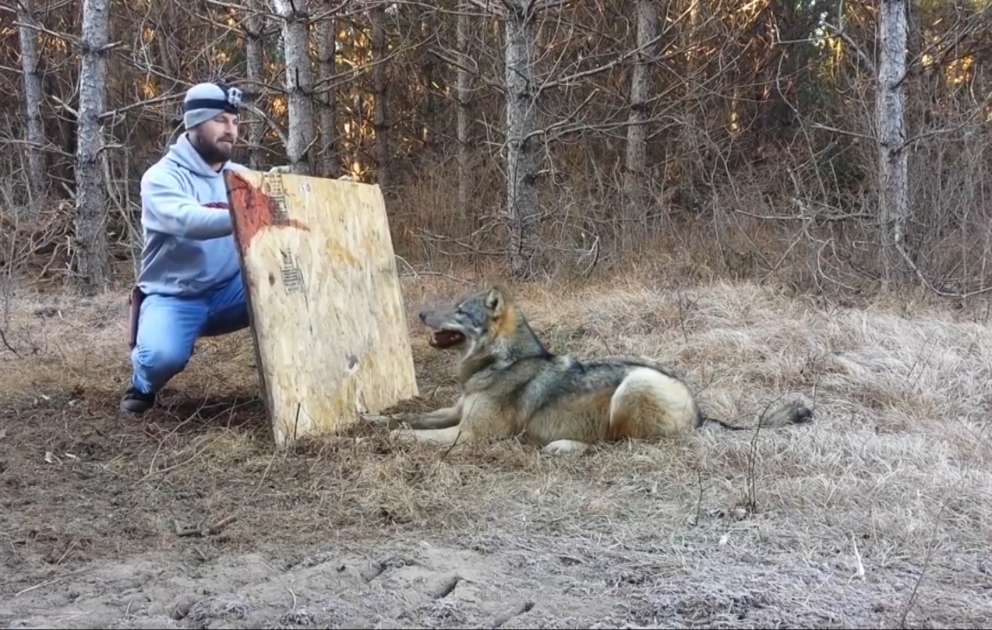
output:
[[[635,216],[646,217],[648,210],[648,119],[651,96],[651,59],[657,36],[658,15],[654,0],[637,2],[637,48],[634,70],[630,78],[630,126],[627,127],[627,160],[624,192]]]

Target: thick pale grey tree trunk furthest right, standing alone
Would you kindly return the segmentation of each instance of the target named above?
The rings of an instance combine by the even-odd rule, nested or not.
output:
[[[906,2],[881,0],[878,20],[879,63],[878,161],[879,214],[883,233],[884,284],[894,280],[893,268],[907,255],[903,245],[909,218],[909,183],[902,80],[906,76]]]

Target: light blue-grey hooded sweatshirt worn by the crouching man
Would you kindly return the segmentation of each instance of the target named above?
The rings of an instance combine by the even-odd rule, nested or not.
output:
[[[141,177],[144,251],[138,286],[145,294],[192,296],[240,269],[223,171],[203,161],[184,133]]]

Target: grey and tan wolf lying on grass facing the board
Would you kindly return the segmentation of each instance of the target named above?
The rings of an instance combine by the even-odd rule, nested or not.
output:
[[[364,415],[363,424],[450,446],[515,437],[548,455],[582,453],[622,439],[664,438],[710,423],[748,429],[704,415],[685,380],[658,361],[579,360],[550,352],[498,284],[453,307],[423,310],[420,320],[431,330],[431,347],[461,351],[458,401],[427,413]],[[789,402],[759,426],[801,424],[812,415],[804,404]]]

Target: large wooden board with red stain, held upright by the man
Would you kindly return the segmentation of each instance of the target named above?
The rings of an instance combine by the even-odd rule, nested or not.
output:
[[[418,395],[379,187],[255,171],[225,178],[276,443]]]

